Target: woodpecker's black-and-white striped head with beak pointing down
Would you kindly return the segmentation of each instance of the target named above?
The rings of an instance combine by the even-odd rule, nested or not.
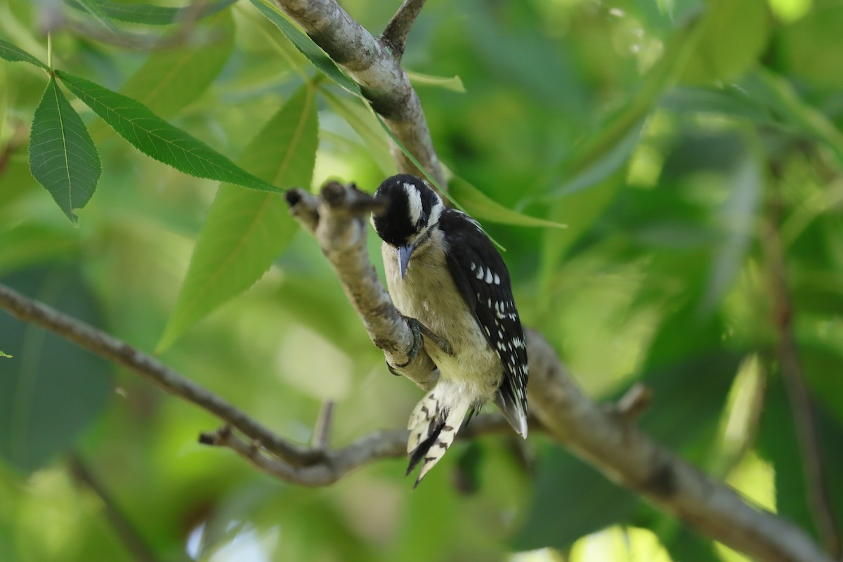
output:
[[[413,250],[424,243],[439,222],[442,199],[426,181],[410,174],[384,179],[374,196],[389,201],[385,211],[372,216],[372,224],[378,236],[398,252],[403,278]]]

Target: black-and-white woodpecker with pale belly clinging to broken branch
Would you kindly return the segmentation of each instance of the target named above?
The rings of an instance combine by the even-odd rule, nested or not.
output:
[[[421,324],[439,370],[407,424],[407,474],[421,463],[418,485],[466,416],[490,399],[527,437],[527,347],[507,266],[475,219],[410,174],[385,179],[375,197],[389,201],[372,217],[389,295],[409,323]]]

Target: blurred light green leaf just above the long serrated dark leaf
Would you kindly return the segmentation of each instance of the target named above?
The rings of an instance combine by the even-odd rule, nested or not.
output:
[[[120,90],[144,104],[155,115],[169,119],[196,100],[219,72],[234,49],[234,21],[221,13],[203,29],[206,40],[173,49],[153,51]]]

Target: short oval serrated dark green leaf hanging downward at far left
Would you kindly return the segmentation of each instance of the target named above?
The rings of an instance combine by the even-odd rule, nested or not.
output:
[[[94,195],[102,172],[88,129],[53,77],[32,119],[30,171],[72,222],[73,211]]]

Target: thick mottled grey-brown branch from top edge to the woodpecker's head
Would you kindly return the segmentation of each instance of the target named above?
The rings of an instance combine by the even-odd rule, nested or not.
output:
[[[389,130],[416,157],[422,168],[445,185],[421,101],[400,65],[400,51],[395,51],[387,40],[375,39],[336,0],[276,0],[276,3],[360,84],[363,95],[384,117]],[[415,5],[417,2],[408,0],[407,3]],[[409,14],[410,11],[405,15]],[[401,25],[409,29],[409,18],[401,16],[401,19],[408,19]],[[400,148],[394,144],[391,147],[400,171],[423,175]]]

